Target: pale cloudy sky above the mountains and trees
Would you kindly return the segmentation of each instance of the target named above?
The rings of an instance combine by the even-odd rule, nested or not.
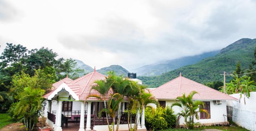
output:
[[[0,52],[44,46],[97,69],[219,50],[255,30],[252,0],[0,0]]]

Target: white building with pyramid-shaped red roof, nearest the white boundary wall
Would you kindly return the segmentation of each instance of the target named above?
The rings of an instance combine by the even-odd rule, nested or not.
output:
[[[159,86],[156,89],[150,89],[153,96],[158,99],[159,104],[163,107],[171,106],[173,103],[178,102],[176,98],[182,96],[183,93],[186,96],[192,92],[196,91],[198,94],[193,96],[193,100],[199,100],[204,102],[205,109],[208,110],[209,118],[207,119],[206,113],[200,113],[200,119],[195,120],[202,125],[226,125],[228,124],[227,112],[226,112],[226,101],[227,100],[237,100],[234,97],[226,95],[222,92],[214,90],[205,85],[199,84],[195,81],[187,79],[183,76],[180,76],[165,83],[164,85]],[[156,107],[155,104],[151,106]],[[172,108],[175,113],[181,112],[181,108],[174,106]],[[183,126],[184,119],[180,119],[180,125]]]

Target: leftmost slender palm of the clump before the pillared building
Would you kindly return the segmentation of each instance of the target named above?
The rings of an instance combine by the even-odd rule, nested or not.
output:
[[[97,95],[97,94],[91,94],[91,90],[90,90],[90,95],[86,97],[96,97],[98,99],[103,99],[104,101],[104,109],[102,111],[106,111],[106,96],[108,95],[108,91],[110,90],[113,82],[109,81],[108,78],[106,78],[106,80],[96,80],[94,83],[96,83],[95,86],[92,86],[91,90],[96,90],[100,93],[101,96]],[[85,100],[86,100],[85,99]],[[111,130],[111,127],[108,123],[108,113],[106,112],[106,118],[107,118],[107,124],[108,124],[108,129]]]

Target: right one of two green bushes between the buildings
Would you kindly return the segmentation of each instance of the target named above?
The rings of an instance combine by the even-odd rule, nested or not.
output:
[[[163,111],[163,118],[167,121],[167,127],[175,127],[176,125],[176,115],[174,115],[174,112],[172,108],[167,106]]]

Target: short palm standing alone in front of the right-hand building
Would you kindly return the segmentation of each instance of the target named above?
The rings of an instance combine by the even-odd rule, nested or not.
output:
[[[203,109],[204,103],[201,101],[193,101],[192,98],[194,94],[196,94],[196,91],[192,91],[187,97],[185,93],[183,93],[182,97],[177,97],[176,99],[180,100],[181,103],[176,102],[173,103],[171,107],[178,106],[182,108],[181,112],[178,113],[177,117],[177,123],[180,119],[181,116],[185,119],[185,126],[188,129],[193,129],[194,125],[199,124],[199,123],[194,123],[194,118],[199,120],[199,113],[204,112],[207,114],[207,118],[209,117],[209,114],[207,110]]]

